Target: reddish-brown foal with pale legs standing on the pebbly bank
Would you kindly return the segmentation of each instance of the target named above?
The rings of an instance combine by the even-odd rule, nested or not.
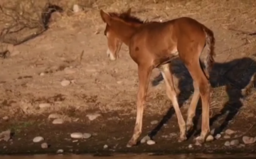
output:
[[[159,68],[166,83],[166,94],[171,99],[178,119],[180,136],[178,141],[186,140],[186,131],[193,127],[198,99],[202,99],[203,115],[201,136],[196,138],[198,144],[203,143],[210,131],[209,102],[210,82],[209,72],[213,66],[215,38],[213,31],[194,20],[182,17],[165,22],[144,22],[130,15],[131,9],[123,13],[106,13],[100,10],[102,21],[106,23],[107,55],[110,60],[116,60],[122,43],[129,46],[129,55],[138,65],[139,90],[137,93],[137,118],[134,133],[127,147],[137,144],[142,133],[142,116],[149,87],[149,77],[154,68]],[[200,60],[203,49],[206,48],[206,69]],[[179,57],[193,78],[194,93],[188,109],[185,123],[178,106],[174,79],[170,70],[170,62]]]

